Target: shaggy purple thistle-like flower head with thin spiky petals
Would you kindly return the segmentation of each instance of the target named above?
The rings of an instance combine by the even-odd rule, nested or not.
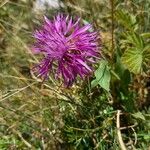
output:
[[[57,15],[53,20],[45,17],[40,30],[35,31],[34,52],[43,53],[44,58],[35,72],[44,79],[51,72],[55,78],[62,77],[68,87],[77,75],[83,78],[92,73],[92,64],[99,56],[97,32],[90,32],[90,24],[81,27],[80,18]]]

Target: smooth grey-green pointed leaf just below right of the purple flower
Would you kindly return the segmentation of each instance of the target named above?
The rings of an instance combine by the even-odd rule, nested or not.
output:
[[[110,90],[110,68],[105,60],[100,61],[99,68],[95,71],[96,79],[91,82],[91,87],[100,85],[106,91]]]

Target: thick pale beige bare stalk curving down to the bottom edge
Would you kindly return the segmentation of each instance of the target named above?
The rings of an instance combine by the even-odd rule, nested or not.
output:
[[[119,141],[119,144],[120,144],[120,148],[122,150],[127,150],[126,146],[123,142],[122,135],[121,135],[121,130],[120,130],[120,113],[121,113],[121,110],[118,110],[117,111],[117,120],[116,120],[118,141]]]

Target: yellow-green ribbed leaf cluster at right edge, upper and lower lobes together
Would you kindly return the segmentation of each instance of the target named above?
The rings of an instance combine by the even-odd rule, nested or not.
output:
[[[126,35],[124,42],[127,49],[122,55],[122,63],[129,71],[138,74],[142,70],[142,64],[150,59],[150,44],[144,43],[140,34],[130,32]]]

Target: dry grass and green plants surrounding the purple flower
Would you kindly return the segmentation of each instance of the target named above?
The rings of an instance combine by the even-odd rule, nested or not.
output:
[[[150,1],[0,2],[0,150],[150,149]],[[57,12],[81,16],[100,32],[93,77],[65,89],[31,71],[32,33]]]

